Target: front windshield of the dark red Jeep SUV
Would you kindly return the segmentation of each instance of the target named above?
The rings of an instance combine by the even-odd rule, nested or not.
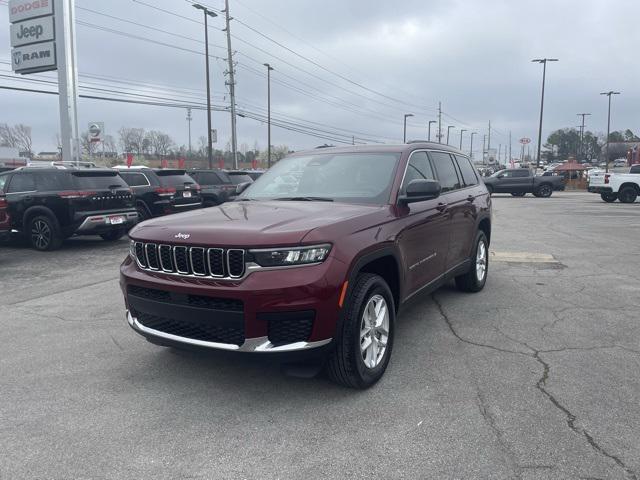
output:
[[[398,153],[338,153],[289,157],[258,178],[240,199],[389,201]]]

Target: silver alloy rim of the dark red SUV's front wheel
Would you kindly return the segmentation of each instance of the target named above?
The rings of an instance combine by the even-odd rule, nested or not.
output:
[[[372,296],[360,322],[360,354],[367,368],[377,367],[389,340],[389,308],[382,295]]]

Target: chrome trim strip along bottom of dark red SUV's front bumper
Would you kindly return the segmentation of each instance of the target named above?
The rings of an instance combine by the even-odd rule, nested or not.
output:
[[[236,352],[255,352],[255,353],[281,353],[281,352],[297,352],[301,350],[310,350],[312,348],[322,347],[327,345],[333,340],[327,338],[326,340],[319,340],[317,342],[295,342],[287,343],[286,345],[274,345],[269,341],[269,337],[255,337],[246,338],[244,343],[240,346],[233,343],[217,343],[206,342],[204,340],[195,340],[193,338],[179,337],[170,333],[161,332],[148,328],[138,322],[127,310],[127,322],[129,326],[139,333],[146,333],[147,335],[153,335],[154,337],[164,338],[174,342],[186,343],[189,345],[195,345],[198,347],[215,348],[218,350],[232,350]]]

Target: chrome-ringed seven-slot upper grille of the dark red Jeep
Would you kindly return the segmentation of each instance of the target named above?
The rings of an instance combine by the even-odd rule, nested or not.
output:
[[[145,270],[196,277],[241,278],[245,272],[242,249],[187,247],[135,242],[138,266]]]

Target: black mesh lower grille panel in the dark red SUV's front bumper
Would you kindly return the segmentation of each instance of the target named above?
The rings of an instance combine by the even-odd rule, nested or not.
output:
[[[131,314],[142,325],[178,337],[242,345],[244,305],[241,300],[188,295],[129,285]]]

